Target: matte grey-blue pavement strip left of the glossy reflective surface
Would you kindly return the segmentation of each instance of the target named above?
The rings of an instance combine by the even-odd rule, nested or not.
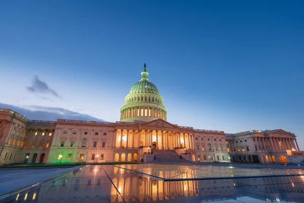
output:
[[[0,169],[0,196],[15,190],[49,180],[78,170],[85,165],[74,167],[39,167]]]

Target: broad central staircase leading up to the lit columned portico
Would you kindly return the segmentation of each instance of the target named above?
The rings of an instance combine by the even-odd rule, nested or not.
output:
[[[180,158],[174,150],[153,150],[154,163],[185,163],[189,162],[183,157]]]

